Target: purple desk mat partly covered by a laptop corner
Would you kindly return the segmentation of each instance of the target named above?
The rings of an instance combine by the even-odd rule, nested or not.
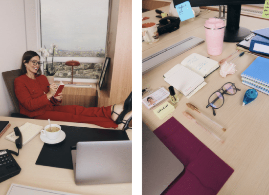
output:
[[[232,175],[234,170],[174,117],[154,133],[185,169],[162,195],[216,195]]]

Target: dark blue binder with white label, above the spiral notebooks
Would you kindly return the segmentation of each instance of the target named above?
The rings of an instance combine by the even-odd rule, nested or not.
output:
[[[269,39],[256,35],[251,39],[249,51],[269,55]]]

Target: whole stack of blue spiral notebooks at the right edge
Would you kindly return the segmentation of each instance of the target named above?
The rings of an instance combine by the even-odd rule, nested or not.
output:
[[[241,77],[243,84],[269,95],[269,59],[258,57]]]

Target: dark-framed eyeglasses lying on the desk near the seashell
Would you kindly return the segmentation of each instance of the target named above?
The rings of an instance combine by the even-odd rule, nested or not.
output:
[[[225,83],[220,89],[215,91],[209,98],[208,98],[208,104],[206,108],[209,106],[213,110],[213,115],[216,116],[215,109],[218,109],[223,106],[224,104],[224,94],[227,94],[229,96],[233,96],[236,94],[237,91],[240,91],[240,89],[236,88],[234,83],[227,82]]]

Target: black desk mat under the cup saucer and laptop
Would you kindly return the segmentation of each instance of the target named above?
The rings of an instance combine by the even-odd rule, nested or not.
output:
[[[64,141],[57,144],[44,143],[37,158],[37,165],[73,169],[71,146],[79,141],[115,141],[129,140],[127,133],[122,130],[96,129],[88,127],[72,127],[61,125],[66,133]]]

